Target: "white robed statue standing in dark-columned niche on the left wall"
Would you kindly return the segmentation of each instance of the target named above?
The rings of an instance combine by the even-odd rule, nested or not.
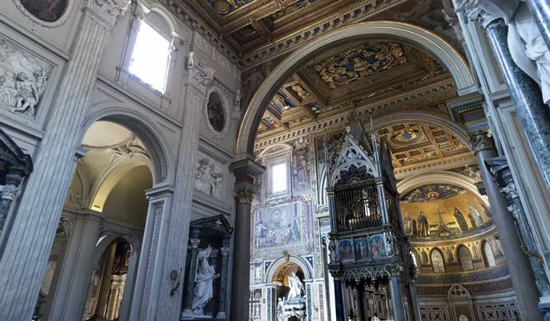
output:
[[[210,245],[198,253],[195,291],[193,292],[193,315],[204,315],[205,305],[212,300],[213,282],[220,277],[220,274],[216,274],[214,267],[208,263],[210,253],[212,253]]]

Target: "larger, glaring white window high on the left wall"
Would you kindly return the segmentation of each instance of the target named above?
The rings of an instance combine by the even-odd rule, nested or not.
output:
[[[158,91],[164,92],[170,58],[170,41],[142,23],[133,47],[130,72]]]

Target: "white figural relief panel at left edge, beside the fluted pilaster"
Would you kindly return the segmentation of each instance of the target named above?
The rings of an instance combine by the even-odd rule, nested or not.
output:
[[[45,60],[0,37],[0,106],[34,118],[53,68]]]

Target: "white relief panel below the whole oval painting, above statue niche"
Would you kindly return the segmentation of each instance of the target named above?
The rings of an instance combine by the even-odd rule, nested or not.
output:
[[[222,164],[199,152],[195,190],[213,196],[217,200],[222,200],[220,193],[222,181]]]

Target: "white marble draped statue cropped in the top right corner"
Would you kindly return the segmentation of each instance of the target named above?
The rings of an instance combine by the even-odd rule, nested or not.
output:
[[[465,11],[471,20],[482,10],[504,19],[514,62],[539,83],[544,103],[550,103],[550,51],[527,4],[523,0],[457,0],[456,11]]]

